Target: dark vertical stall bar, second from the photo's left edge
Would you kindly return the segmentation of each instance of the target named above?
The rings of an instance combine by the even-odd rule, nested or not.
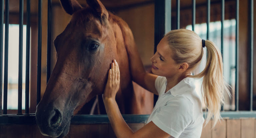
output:
[[[7,114],[9,0],[5,0],[5,34],[4,35],[5,35],[5,37],[4,37],[4,105],[3,105],[3,114]]]

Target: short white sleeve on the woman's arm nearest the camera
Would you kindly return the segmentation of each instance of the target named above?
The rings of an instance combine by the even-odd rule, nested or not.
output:
[[[192,123],[191,102],[185,98],[177,98],[165,106],[159,107],[159,111],[152,122],[160,129],[178,138],[190,123]]]

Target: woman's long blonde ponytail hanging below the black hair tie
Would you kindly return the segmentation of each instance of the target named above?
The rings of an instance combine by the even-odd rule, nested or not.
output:
[[[216,125],[217,121],[222,119],[220,116],[221,104],[224,103],[224,96],[227,93],[231,98],[229,85],[224,81],[223,78],[223,63],[222,57],[219,49],[216,45],[209,40],[205,41],[205,47],[207,48],[207,62],[205,69],[193,76],[193,78],[203,77],[203,90],[204,90],[204,103],[206,109],[208,109],[208,114],[206,118],[205,125],[213,117],[213,127]],[[206,115],[206,110],[205,110]],[[222,119],[223,120],[223,119]],[[213,128],[212,127],[212,128]]]

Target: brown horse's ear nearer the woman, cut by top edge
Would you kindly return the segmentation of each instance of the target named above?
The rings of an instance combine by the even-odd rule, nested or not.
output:
[[[86,0],[86,3],[102,18],[108,19],[108,11],[99,0]]]

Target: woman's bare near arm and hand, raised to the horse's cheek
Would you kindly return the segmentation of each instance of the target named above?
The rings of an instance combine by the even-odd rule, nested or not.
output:
[[[104,90],[103,102],[108,114],[110,124],[117,138],[168,138],[170,135],[152,121],[146,124],[137,132],[133,132],[127,123],[124,121],[118,105],[115,101],[116,92],[120,84],[120,72],[116,61],[111,64],[111,69],[108,72],[108,81]]]

